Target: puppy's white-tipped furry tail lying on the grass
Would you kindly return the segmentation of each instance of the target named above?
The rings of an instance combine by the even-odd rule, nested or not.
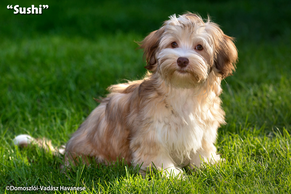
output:
[[[18,145],[19,147],[27,147],[28,145],[37,145],[47,152],[52,152],[52,154],[64,154],[65,153],[65,146],[61,147],[54,147],[52,145],[52,140],[48,140],[46,138],[38,138],[35,139],[29,135],[22,134],[18,135],[13,139],[13,143]]]

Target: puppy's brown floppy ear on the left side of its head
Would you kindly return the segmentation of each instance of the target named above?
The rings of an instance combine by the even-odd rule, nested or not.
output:
[[[159,47],[159,42],[164,28],[151,32],[145,39],[139,42],[139,48],[143,49],[143,59],[145,59],[147,66],[146,69],[155,72],[157,69],[156,53]]]

